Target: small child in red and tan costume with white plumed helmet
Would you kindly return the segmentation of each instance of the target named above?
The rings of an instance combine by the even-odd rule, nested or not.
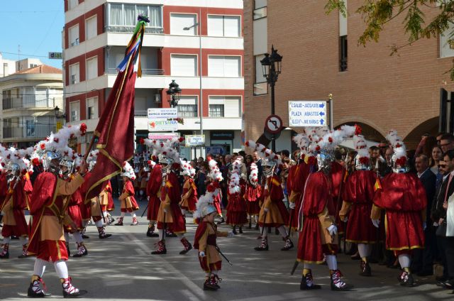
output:
[[[220,288],[218,283],[222,280],[219,278],[222,260],[216,243],[217,236],[233,236],[233,232],[218,231],[214,224],[217,210],[213,202],[216,194],[213,191],[201,196],[197,202],[196,212],[194,212],[194,218],[198,221],[194,248],[198,250],[199,263],[205,272],[204,290],[218,290]]]

